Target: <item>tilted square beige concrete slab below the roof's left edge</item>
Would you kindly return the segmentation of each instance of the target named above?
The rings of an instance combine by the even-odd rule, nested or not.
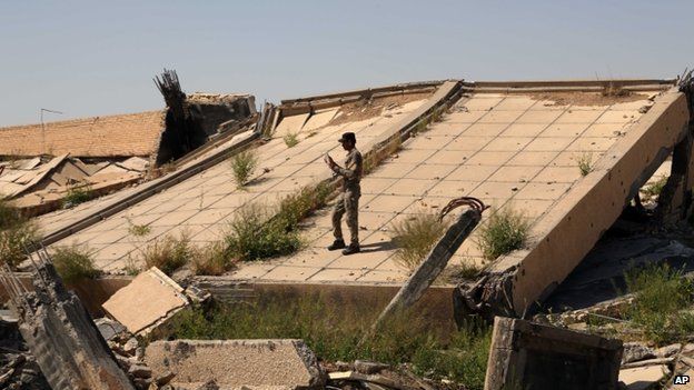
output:
[[[102,307],[128,331],[143,336],[189,304],[184,289],[152,267],[118,290]]]

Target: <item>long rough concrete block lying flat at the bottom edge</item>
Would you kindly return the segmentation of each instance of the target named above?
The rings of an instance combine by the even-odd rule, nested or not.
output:
[[[147,347],[145,362],[155,376],[176,373],[176,388],[197,389],[214,380],[221,389],[321,388],[326,374],[301,340],[174,340]]]

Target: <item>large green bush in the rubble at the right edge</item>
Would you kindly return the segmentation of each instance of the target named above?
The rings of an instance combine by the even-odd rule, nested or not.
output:
[[[680,312],[693,303],[694,282],[667,264],[634,269],[625,274],[628,292],[635,293],[625,318],[658,344],[683,339],[694,331],[694,316]]]

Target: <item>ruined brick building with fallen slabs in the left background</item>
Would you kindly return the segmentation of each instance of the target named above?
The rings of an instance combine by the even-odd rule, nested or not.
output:
[[[208,140],[232,136],[256,116],[248,94],[198,92],[182,99],[190,117],[186,148],[171,108],[0,128],[0,197],[31,217],[70,208],[76,197],[138,184]]]

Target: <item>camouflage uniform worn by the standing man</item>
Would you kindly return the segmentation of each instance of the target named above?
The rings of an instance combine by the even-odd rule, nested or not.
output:
[[[359,197],[361,188],[359,181],[363,173],[361,153],[357,148],[347,153],[345,168],[336,167],[335,173],[343,177],[343,192],[333,209],[333,234],[336,240],[343,240],[343,214],[347,213],[347,227],[351,234],[350,246],[359,247]]]

